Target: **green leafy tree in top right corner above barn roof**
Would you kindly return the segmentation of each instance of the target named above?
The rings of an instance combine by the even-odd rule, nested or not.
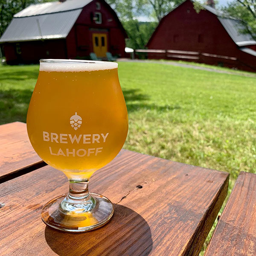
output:
[[[230,16],[242,20],[245,29],[241,33],[250,33],[256,40],[256,1],[255,0],[234,0],[224,8]]]

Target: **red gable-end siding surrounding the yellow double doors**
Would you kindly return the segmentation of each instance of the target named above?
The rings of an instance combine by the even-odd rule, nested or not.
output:
[[[100,10],[96,9],[96,2],[100,2]],[[94,12],[102,14],[102,23],[93,20]],[[111,21],[110,21],[111,20]],[[104,1],[95,0],[84,7],[73,27],[75,35],[70,33],[67,40],[68,57],[87,57],[93,52],[92,33],[106,33],[108,35],[108,51],[113,55],[125,56],[126,34],[113,10]],[[74,45],[76,44],[76,54]],[[69,54],[72,52],[72,54]]]

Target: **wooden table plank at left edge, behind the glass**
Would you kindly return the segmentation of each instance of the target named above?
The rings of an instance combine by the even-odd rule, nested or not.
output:
[[[45,166],[29,142],[26,124],[0,125],[0,183]]]

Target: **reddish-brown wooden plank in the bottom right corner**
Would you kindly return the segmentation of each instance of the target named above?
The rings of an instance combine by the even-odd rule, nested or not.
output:
[[[256,255],[256,175],[241,172],[205,256]]]

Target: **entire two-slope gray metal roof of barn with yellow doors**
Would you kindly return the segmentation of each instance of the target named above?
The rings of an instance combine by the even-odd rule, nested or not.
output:
[[[83,8],[92,1],[67,0],[30,5],[14,15],[0,43],[67,38]],[[111,12],[127,37],[116,13],[113,9]]]

